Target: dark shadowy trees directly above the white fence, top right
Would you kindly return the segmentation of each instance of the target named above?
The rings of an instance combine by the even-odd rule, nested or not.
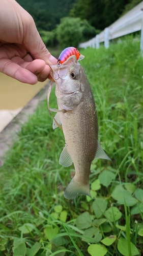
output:
[[[115,22],[124,12],[129,11],[141,0],[76,0],[70,10],[71,17],[87,19],[96,29],[104,28]]]

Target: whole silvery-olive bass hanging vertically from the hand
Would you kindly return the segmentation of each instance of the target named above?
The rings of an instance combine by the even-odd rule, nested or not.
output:
[[[56,112],[52,126],[55,129],[62,125],[65,137],[59,163],[65,167],[73,163],[75,168],[75,176],[67,186],[64,197],[91,197],[89,176],[92,161],[96,158],[110,160],[98,141],[94,96],[75,55],[50,68],[50,74],[55,80],[55,96],[58,103],[58,109],[49,108],[50,111]]]

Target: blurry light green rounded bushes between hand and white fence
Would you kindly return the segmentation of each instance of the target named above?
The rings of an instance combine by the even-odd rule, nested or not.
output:
[[[68,22],[67,22],[68,21]],[[87,20],[76,18],[64,18],[57,29],[52,31],[39,31],[40,36],[47,47],[54,47],[59,44],[62,48],[69,45],[78,46],[79,42],[93,38],[99,32],[92,27]]]

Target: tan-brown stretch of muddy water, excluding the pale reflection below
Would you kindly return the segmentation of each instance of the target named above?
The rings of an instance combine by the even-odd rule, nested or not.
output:
[[[23,108],[45,86],[47,81],[31,86],[0,72],[0,110]]]

